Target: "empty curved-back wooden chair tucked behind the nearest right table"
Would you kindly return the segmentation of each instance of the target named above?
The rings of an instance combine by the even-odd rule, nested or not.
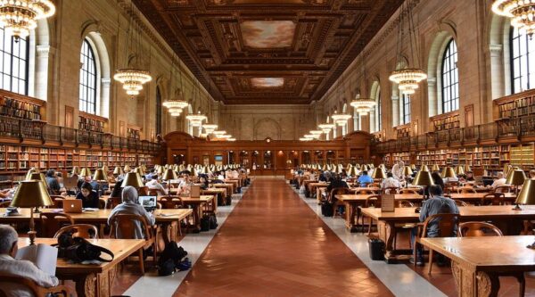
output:
[[[472,236],[503,236],[501,230],[487,222],[465,222],[459,224],[457,236],[459,237],[472,237]],[[526,290],[526,280],[523,272],[495,272],[491,273],[490,277],[498,276],[514,276],[518,281],[519,293],[518,295],[523,297]],[[498,292],[496,292],[497,294]]]

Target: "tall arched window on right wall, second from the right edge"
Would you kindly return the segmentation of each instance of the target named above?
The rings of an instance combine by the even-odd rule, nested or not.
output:
[[[449,41],[442,56],[442,111],[459,109],[459,74],[457,70],[457,45]]]

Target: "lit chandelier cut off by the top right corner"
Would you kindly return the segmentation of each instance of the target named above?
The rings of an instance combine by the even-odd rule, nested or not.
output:
[[[535,33],[535,3],[529,0],[496,0],[492,12],[511,18],[511,26]]]

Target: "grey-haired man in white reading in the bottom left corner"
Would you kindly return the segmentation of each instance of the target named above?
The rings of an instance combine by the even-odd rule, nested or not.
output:
[[[0,275],[20,276],[31,280],[36,285],[49,288],[59,285],[56,276],[48,276],[43,270],[29,260],[16,260],[19,236],[13,227],[0,225]],[[25,285],[2,282],[0,277],[0,292],[7,297],[26,297],[34,294]]]

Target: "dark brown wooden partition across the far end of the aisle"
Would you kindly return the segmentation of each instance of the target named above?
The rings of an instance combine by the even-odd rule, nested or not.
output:
[[[300,164],[368,163],[371,135],[358,131],[330,141],[210,141],[172,132],[164,136],[161,163],[222,163],[235,162],[251,169],[254,175],[283,176]]]

